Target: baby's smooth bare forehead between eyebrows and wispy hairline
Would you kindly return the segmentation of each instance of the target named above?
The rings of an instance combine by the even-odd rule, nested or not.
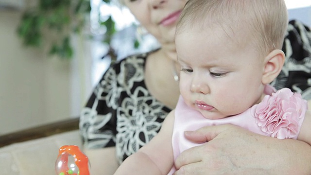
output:
[[[231,27],[217,24],[214,27],[204,28],[186,27],[179,34],[176,34],[176,49],[180,52],[181,50],[189,50],[189,47],[199,47],[208,52],[230,53],[244,52],[255,48],[256,53],[261,54],[261,51],[257,49],[259,45],[262,45],[261,40],[253,37],[252,33],[252,31],[245,30],[243,26]],[[219,48],[222,49],[219,50]]]

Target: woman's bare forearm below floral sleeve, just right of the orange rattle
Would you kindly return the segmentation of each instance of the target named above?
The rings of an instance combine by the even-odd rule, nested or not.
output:
[[[90,163],[90,175],[113,175],[119,167],[116,147],[85,149]]]

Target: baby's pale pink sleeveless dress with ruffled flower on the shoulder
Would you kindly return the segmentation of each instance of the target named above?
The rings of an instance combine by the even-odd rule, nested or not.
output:
[[[180,96],[175,108],[173,126],[174,160],[184,150],[200,145],[187,140],[184,131],[193,131],[204,126],[234,124],[265,136],[297,139],[307,110],[307,101],[289,88],[275,91],[272,86],[266,85],[264,93],[267,95],[262,102],[239,115],[217,120],[204,118],[200,112],[186,105]],[[173,167],[169,175],[174,171]]]

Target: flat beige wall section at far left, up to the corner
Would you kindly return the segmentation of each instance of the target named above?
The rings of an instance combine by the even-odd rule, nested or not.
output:
[[[23,49],[15,33],[20,14],[0,10],[0,133],[37,123],[45,115],[42,53]],[[43,115],[42,115],[43,114]]]

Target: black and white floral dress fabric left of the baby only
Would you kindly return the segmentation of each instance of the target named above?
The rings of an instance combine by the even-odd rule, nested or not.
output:
[[[157,101],[144,84],[148,54],[129,56],[112,65],[94,88],[79,124],[86,148],[116,146],[121,162],[160,130],[171,109]]]

